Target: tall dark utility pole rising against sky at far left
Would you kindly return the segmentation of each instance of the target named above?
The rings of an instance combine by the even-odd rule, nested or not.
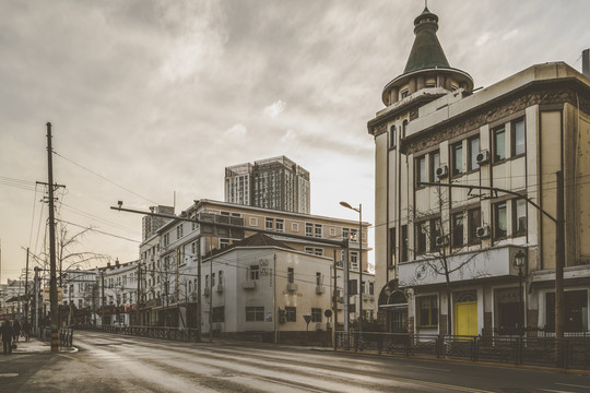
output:
[[[47,182],[49,183],[49,303],[51,307],[51,352],[59,352],[59,310],[56,281],[56,223],[54,207],[54,151],[51,148],[51,123],[47,123]]]

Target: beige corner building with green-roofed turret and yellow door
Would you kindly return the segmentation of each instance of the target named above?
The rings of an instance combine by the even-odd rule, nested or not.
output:
[[[590,79],[552,62],[474,91],[437,29],[428,9],[414,20],[368,121],[379,318],[387,332],[551,335],[563,258],[566,334],[588,332]]]

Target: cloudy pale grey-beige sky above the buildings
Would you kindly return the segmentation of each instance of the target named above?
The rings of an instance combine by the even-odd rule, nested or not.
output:
[[[286,155],[311,213],[374,217],[366,123],[403,72],[421,0],[0,0],[0,282],[43,255],[52,124],[57,216],[72,252],[138,258],[141,215],[224,199],[224,168]],[[489,86],[581,70],[587,0],[430,0],[451,67]],[[369,242],[373,231],[369,230]],[[369,260],[371,260],[369,258]],[[32,258],[31,266],[38,262]],[[105,265],[93,260],[82,267]]]

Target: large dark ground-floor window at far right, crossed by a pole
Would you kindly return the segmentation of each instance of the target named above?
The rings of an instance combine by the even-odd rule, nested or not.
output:
[[[546,330],[555,332],[555,293],[545,295]],[[586,332],[588,330],[588,293],[587,290],[568,290],[564,293],[565,331]]]

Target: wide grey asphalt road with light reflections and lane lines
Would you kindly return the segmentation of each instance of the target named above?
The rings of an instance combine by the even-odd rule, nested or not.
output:
[[[246,343],[76,332],[79,352],[0,356],[5,392],[590,392],[590,377]]]

